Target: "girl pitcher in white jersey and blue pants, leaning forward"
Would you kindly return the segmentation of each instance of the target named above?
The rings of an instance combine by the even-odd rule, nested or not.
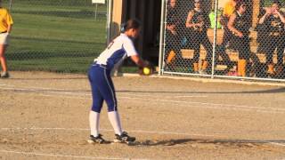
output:
[[[93,106],[89,115],[91,129],[90,142],[102,143],[102,134],[99,133],[99,117],[105,100],[108,106],[108,116],[110,124],[115,131],[115,142],[132,142],[134,137],[130,137],[127,132],[123,132],[118,115],[117,98],[115,88],[110,77],[110,72],[121,60],[130,57],[139,67],[144,67],[145,62],[135,51],[133,39],[139,36],[140,24],[137,20],[128,20],[125,31],[116,37],[109,46],[102,52],[88,72],[91,84]]]

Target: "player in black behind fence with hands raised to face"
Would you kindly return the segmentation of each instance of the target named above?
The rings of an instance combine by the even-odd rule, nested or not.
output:
[[[265,15],[259,20],[259,24],[264,24],[269,35],[266,37],[265,53],[267,74],[269,77],[275,75],[273,67],[273,52],[277,48],[277,68],[280,74],[283,71],[283,53],[284,53],[284,13],[280,11],[281,3],[273,1],[272,7],[267,8]]]

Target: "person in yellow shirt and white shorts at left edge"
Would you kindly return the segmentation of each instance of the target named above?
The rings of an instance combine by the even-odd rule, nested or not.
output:
[[[3,69],[3,73],[0,75],[2,78],[8,78],[8,68],[7,68],[7,62],[5,58],[5,50],[9,44],[9,34],[12,30],[12,17],[10,13],[1,6],[2,1],[0,0],[0,63],[1,67]]]

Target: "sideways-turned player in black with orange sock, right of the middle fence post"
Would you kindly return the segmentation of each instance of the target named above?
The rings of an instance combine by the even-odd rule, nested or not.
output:
[[[238,76],[246,76],[246,68],[250,54],[249,28],[245,12],[247,6],[243,2],[235,5],[235,12],[231,15],[227,27],[232,32],[232,42],[239,52]]]

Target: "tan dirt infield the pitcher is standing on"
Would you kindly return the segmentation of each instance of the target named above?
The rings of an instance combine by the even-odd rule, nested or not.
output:
[[[0,79],[0,159],[285,159],[285,88],[114,77],[134,145],[86,142],[84,75],[12,72]],[[101,129],[113,131],[104,106]]]

